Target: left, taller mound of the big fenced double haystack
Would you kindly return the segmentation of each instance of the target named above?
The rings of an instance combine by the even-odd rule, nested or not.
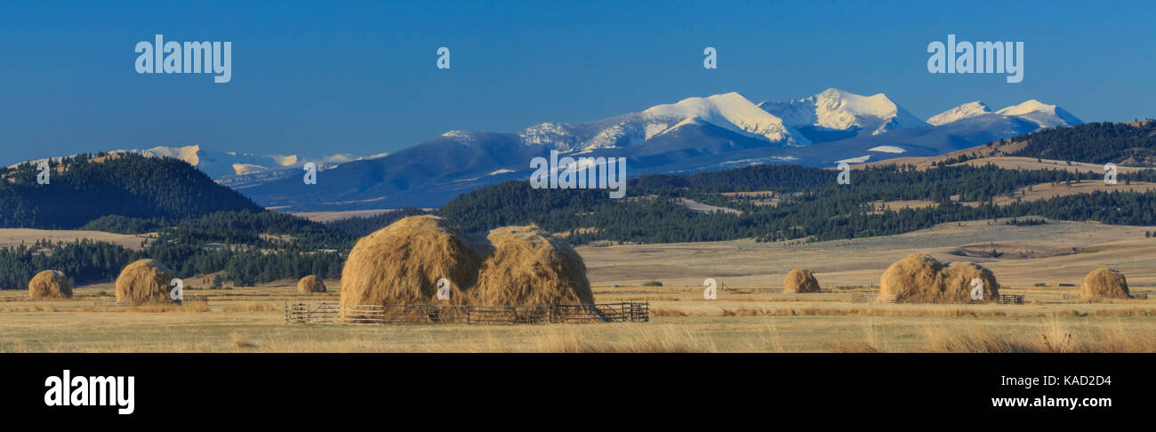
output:
[[[431,304],[437,281],[451,283],[450,303],[462,303],[481,255],[457,226],[437,216],[402,218],[363,237],[341,270],[341,305]]]

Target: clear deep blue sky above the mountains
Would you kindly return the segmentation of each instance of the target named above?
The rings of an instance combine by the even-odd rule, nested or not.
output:
[[[0,15],[0,162],[197,143],[377,154],[449,129],[586,121],[691,96],[884,92],[927,118],[1036,98],[1156,117],[1156,5],[1068,1],[55,2]],[[232,82],[139,75],[140,40],[231,40]],[[1021,40],[1022,83],[933,75],[927,44]],[[435,67],[451,49],[449,70]],[[703,49],[719,68],[703,68]]]

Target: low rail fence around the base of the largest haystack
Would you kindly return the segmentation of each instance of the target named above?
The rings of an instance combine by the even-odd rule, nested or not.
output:
[[[646,322],[650,303],[591,305],[339,305],[286,304],[286,323],[467,323]]]

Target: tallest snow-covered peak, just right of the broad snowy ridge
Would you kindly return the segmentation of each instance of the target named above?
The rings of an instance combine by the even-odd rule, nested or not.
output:
[[[758,106],[792,127],[855,129],[877,135],[891,129],[927,126],[884,94],[862,96],[836,88],[801,99],[764,102]]]

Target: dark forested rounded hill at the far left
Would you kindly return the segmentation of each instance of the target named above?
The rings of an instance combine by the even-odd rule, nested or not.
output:
[[[79,155],[50,167],[46,185],[37,183],[34,164],[0,170],[0,228],[75,229],[109,215],[180,219],[264,210],[180,159]]]

